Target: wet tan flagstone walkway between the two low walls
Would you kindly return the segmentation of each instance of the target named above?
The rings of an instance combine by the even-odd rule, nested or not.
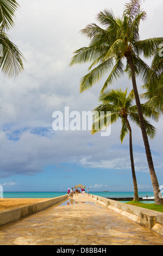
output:
[[[0,228],[0,245],[163,245],[163,237],[79,196]]]

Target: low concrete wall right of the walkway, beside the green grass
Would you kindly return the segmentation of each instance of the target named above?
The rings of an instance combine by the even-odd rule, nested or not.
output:
[[[162,212],[148,210],[139,206],[129,205],[112,199],[95,196],[93,194],[90,194],[90,197],[105,205],[109,209],[129,218],[130,220],[152,229],[160,235],[163,235]]]

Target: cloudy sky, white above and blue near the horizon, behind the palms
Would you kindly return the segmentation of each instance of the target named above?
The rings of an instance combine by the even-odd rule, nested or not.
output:
[[[18,1],[15,27],[9,31],[27,62],[17,78],[0,72],[0,185],[4,191],[67,191],[83,184],[91,191],[133,191],[129,136],[120,142],[121,122],[111,125],[109,136],[87,130],[53,129],[53,113],[92,111],[99,105],[103,80],[79,93],[80,79],[89,65],[69,63],[73,52],[89,40],[79,33],[96,15],[112,9],[121,16],[127,0]],[[162,36],[162,0],[146,0],[147,19],[140,25],[141,39]],[[150,63],[151,60],[147,60]],[[142,81],[137,79],[139,93]],[[111,88],[132,89],[126,76]],[[73,113],[72,113],[73,114]],[[73,120],[70,117],[70,120]],[[163,185],[163,120],[149,139],[155,172]],[[139,191],[153,191],[141,130],[131,123]]]

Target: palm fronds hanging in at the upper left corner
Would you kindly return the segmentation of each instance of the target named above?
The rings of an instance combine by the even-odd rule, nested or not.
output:
[[[17,76],[24,69],[23,54],[5,33],[14,26],[18,7],[15,0],[0,0],[0,44],[1,50],[3,50],[3,56],[0,57],[0,68],[3,74],[9,78]]]

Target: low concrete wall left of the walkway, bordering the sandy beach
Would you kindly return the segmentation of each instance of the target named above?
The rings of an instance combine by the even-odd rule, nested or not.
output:
[[[20,218],[23,218],[30,214],[34,214],[35,212],[42,211],[48,208],[49,206],[59,204],[59,202],[62,202],[67,198],[68,198],[68,195],[66,194],[65,196],[47,199],[45,201],[34,203],[34,204],[27,204],[23,206],[10,208],[8,210],[1,210],[0,227],[2,227],[2,225],[17,221]]]

